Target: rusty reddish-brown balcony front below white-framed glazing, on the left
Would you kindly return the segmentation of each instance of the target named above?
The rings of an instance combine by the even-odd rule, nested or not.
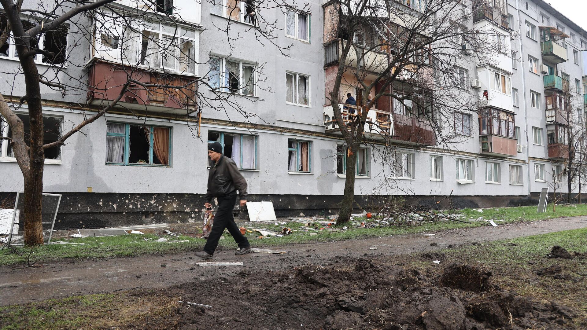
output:
[[[131,78],[141,83],[168,86],[187,85],[193,78],[170,75],[146,70],[130,69],[126,66],[106,62],[94,62],[89,66],[88,99],[93,105],[107,105],[117,99],[123,85]],[[129,85],[120,102],[127,109],[150,112],[187,115],[195,112],[195,86],[187,88],[142,87],[136,83]],[[122,106],[122,105],[121,105]]]

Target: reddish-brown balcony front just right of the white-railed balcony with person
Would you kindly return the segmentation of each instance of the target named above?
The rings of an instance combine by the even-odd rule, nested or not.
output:
[[[397,143],[435,146],[436,136],[430,123],[418,117],[393,114],[393,137]]]

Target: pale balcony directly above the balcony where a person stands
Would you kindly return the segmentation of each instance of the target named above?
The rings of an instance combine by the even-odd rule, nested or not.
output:
[[[346,41],[345,41],[346,43]],[[342,53],[342,39],[335,39],[324,45],[324,65],[329,66],[338,64],[340,54]],[[365,68],[370,72],[381,72],[387,68],[389,64],[387,59],[387,53],[381,50],[369,50],[363,46],[352,46],[349,50],[348,56],[345,61],[345,65],[352,68]],[[357,56],[357,51],[366,52],[365,55]]]

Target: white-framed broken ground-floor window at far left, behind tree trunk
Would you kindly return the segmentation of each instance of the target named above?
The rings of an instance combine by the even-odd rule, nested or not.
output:
[[[22,120],[25,130],[25,142],[26,144],[29,144],[29,135],[31,134],[29,115],[17,113],[16,116]],[[43,143],[47,144],[59,140],[59,137],[61,136],[62,121],[63,117],[43,116],[43,130],[45,131],[43,134]],[[4,119],[0,122],[0,136],[12,137],[12,130]],[[0,159],[14,158],[14,150],[12,150],[10,143],[2,144],[1,141],[2,140],[0,139]],[[45,149],[45,159],[61,159],[61,147],[58,146]]]

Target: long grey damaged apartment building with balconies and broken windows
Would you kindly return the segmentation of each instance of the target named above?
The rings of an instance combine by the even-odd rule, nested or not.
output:
[[[414,15],[425,8],[425,0],[397,2]],[[491,29],[511,49],[511,56],[492,63],[471,58],[455,72],[462,89],[485,97],[484,108],[499,113],[499,119],[483,112],[455,113],[462,138],[447,150],[436,144],[432,125],[411,120],[417,114],[406,105],[381,99],[369,112],[373,120],[388,123],[379,126],[379,133],[389,136],[402,159],[402,170],[393,174],[397,185],[417,196],[452,194],[455,204],[474,207],[534,204],[541,188],[552,191],[553,184],[565,192],[566,134],[574,125],[585,125],[581,50],[587,32],[542,0],[463,3],[470,13],[463,29]],[[338,60],[332,51],[336,39],[325,38],[329,3],[309,1],[306,14],[264,9],[265,21],[281,26],[274,31],[278,38],[265,43],[255,35],[251,2],[170,4],[136,8],[134,0],[119,0],[110,4],[114,11],[142,13],[133,29],[124,21],[96,17],[87,18],[92,29],[64,25],[39,39],[39,48],[55,54],[37,55],[39,72],[65,68],[63,79],[83,77],[71,83],[85,90],[63,95],[42,86],[46,143],[82,121],[86,112],[114,100],[129,70],[141,72],[119,106],[64,146],[45,151],[43,191],[63,195],[57,228],[200,221],[210,165],[207,143],[215,141],[247,179],[250,200],[272,201],[278,215],[336,214],[345,186],[346,148],[325,97]],[[176,15],[181,23],[170,23]],[[0,19],[5,25],[5,16]],[[228,22],[238,38],[227,39]],[[368,35],[357,33],[353,39],[369,42]],[[165,51],[177,56],[166,56],[153,38],[169,39]],[[284,55],[280,48],[289,45]],[[26,103],[18,102],[25,88],[10,39],[0,49],[0,62],[2,93],[14,100],[26,124]],[[205,76],[210,77],[205,84],[190,85]],[[161,81],[189,87],[141,87]],[[346,93],[360,94],[355,85],[341,89],[342,101]],[[238,94],[242,107],[211,107],[205,101],[216,97],[210,89]],[[573,102],[566,102],[570,95]],[[362,102],[357,99],[358,105]],[[568,112],[581,120],[569,122]],[[406,137],[400,132],[419,133]],[[11,136],[4,121],[0,133]],[[365,144],[357,157],[355,194],[362,205],[370,194],[403,194],[376,190],[388,172],[375,159],[375,145]],[[10,144],[0,140],[0,196],[22,190]]]

